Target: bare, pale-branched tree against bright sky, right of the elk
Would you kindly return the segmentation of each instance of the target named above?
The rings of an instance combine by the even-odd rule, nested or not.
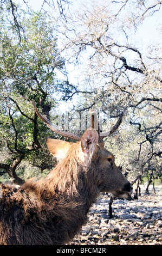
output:
[[[78,82],[60,88],[63,98],[77,95],[80,112],[108,110],[111,120],[125,110],[119,136],[107,144],[126,172],[148,180],[161,176],[161,45],[140,49],[135,32],[160,7],[161,1],[90,1],[61,31],[63,54],[78,67]]]

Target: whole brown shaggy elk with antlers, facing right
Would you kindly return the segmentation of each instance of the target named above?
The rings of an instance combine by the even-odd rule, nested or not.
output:
[[[51,130],[77,142],[47,138],[50,153],[59,159],[47,177],[27,180],[19,188],[1,184],[0,244],[66,245],[86,224],[90,206],[100,192],[126,198],[132,187],[104,147],[107,132],[94,129],[93,110],[92,127],[78,136],[59,130],[38,112],[34,101],[33,105]],[[109,134],[118,129],[122,115]]]

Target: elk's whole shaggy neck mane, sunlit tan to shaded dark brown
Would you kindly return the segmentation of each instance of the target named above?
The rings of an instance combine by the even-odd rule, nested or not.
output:
[[[57,204],[59,208],[73,209],[73,212],[74,209],[76,211],[82,209],[87,214],[98,197],[99,190],[95,185],[95,176],[92,175],[94,167],[91,163],[88,166],[84,164],[84,157],[80,142],[72,144],[67,155],[48,174],[46,179],[29,180],[22,188],[29,193],[33,191],[36,194],[37,203],[46,202],[46,208],[47,204],[50,208],[55,208],[55,204]]]

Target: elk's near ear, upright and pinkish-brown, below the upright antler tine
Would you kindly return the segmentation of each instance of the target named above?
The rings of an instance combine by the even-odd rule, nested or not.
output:
[[[87,129],[81,138],[81,148],[83,153],[93,153],[98,141],[98,132],[96,130]]]

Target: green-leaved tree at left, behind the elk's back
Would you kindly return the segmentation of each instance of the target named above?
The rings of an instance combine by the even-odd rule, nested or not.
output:
[[[22,161],[40,170],[50,169],[54,162],[45,147],[50,131],[38,120],[31,100],[50,109],[56,106],[53,93],[59,83],[56,70],[63,70],[64,60],[57,51],[55,26],[43,14],[21,11],[25,39],[17,38],[16,28],[7,23],[8,11],[1,16],[0,59],[0,175],[22,184],[17,168]]]

